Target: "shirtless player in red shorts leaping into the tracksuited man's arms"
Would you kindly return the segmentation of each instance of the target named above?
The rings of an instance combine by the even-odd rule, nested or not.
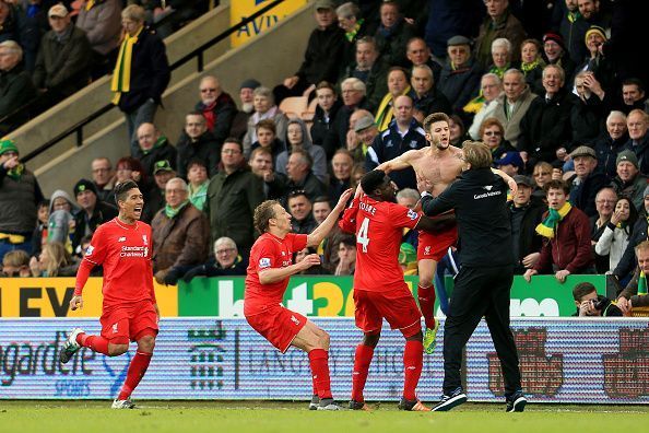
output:
[[[376,169],[390,173],[391,171],[413,167],[417,178],[423,178],[428,185],[432,185],[430,194],[433,197],[437,197],[462,173],[462,150],[450,145],[449,117],[446,114],[434,113],[426,117],[424,119],[424,130],[426,131],[426,140],[430,143],[428,148],[404,152],[400,156],[380,164]],[[516,183],[511,177],[498,169],[495,169],[494,173],[507,180],[512,190],[516,189]],[[417,247],[420,284],[417,286],[417,296],[426,323],[426,333],[424,336],[424,350],[426,353],[433,353],[437,335],[437,321],[434,312],[435,288],[433,286],[435,270],[437,269],[437,262],[446,256],[448,248],[453,246],[457,239],[457,225],[451,225],[445,232],[435,235],[420,231]]]

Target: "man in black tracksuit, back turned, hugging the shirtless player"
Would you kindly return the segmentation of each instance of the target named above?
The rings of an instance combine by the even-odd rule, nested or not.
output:
[[[507,411],[521,412],[527,400],[509,329],[514,255],[507,184],[492,173],[486,145],[464,143],[463,151],[462,175],[437,198],[426,192],[425,180],[417,184],[426,215],[455,209],[462,262],[444,328],[444,396],[433,410],[446,411],[467,401],[460,382],[462,349],[484,316],[505,376]]]

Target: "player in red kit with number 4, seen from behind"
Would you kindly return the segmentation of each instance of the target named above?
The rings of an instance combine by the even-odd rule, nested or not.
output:
[[[364,332],[356,347],[350,409],[367,410],[363,388],[369,372],[374,349],[379,341],[382,319],[405,337],[403,352],[403,397],[399,409],[427,411],[415,395],[422,374],[424,347],[422,315],[403,280],[399,265],[399,247],[403,229],[438,230],[440,224],[455,225],[455,219],[436,222],[396,203],[397,189],[382,171],[371,171],[361,180],[351,207],[345,210],[340,226],[356,234],[356,272],[354,272],[354,305],[356,326]],[[362,196],[362,197],[361,197]],[[444,226],[444,225],[441,225]]]

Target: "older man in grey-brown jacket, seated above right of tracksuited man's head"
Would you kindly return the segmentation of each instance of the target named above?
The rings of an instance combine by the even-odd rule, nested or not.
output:
[[[536,95],[530,91],[526,84],[524,75],[517,69],[505,72],[503,89],[503,94],[496,100],[494,117],[505,127],[505,140],[509,141],[519,152],[524,152],[527,149],[518,145],[521,134],[520,124]],[[523,160],[528,159],[528,154],[521,156]]]

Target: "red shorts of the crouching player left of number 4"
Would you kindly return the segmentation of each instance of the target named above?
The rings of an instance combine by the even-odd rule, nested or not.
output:
[[[246,320],[252,329],[284,353],[297,332],[306,325],[307,318],[278,304],[261,314],[246,316]]]

